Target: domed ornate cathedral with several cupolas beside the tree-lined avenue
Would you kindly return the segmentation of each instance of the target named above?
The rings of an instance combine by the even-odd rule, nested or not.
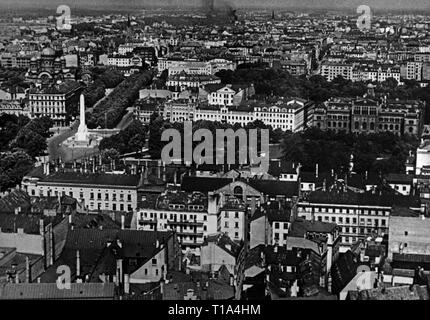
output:
[[[39,85],[75,80],[75,71],[66,67],[66,59],[57,55],[52,48],[44,48],[40,57],[33,57],[26,80]]]

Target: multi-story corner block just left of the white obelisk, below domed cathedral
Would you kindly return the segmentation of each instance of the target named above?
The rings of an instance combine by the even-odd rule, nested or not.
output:
[[[74,81],[30,89],[30,117],[48,116],[54,121],[55,126],[67,126],[72,117],[72,110],[78,110],[81,91],[82,86]]]

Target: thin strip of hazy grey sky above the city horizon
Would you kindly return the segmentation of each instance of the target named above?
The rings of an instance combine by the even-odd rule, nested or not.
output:
[[[104,6],[104,5],[192,5],[202,6],[209,0],[0,0],[0,4],[10,7],[18,6],[54,6],[66,4],[69,6]],[[304,7],[304,8],[351,8],[359,5],[369,5],[377,9],[430,9],[430,0],[214,0],[229,3],[234,7]]]

